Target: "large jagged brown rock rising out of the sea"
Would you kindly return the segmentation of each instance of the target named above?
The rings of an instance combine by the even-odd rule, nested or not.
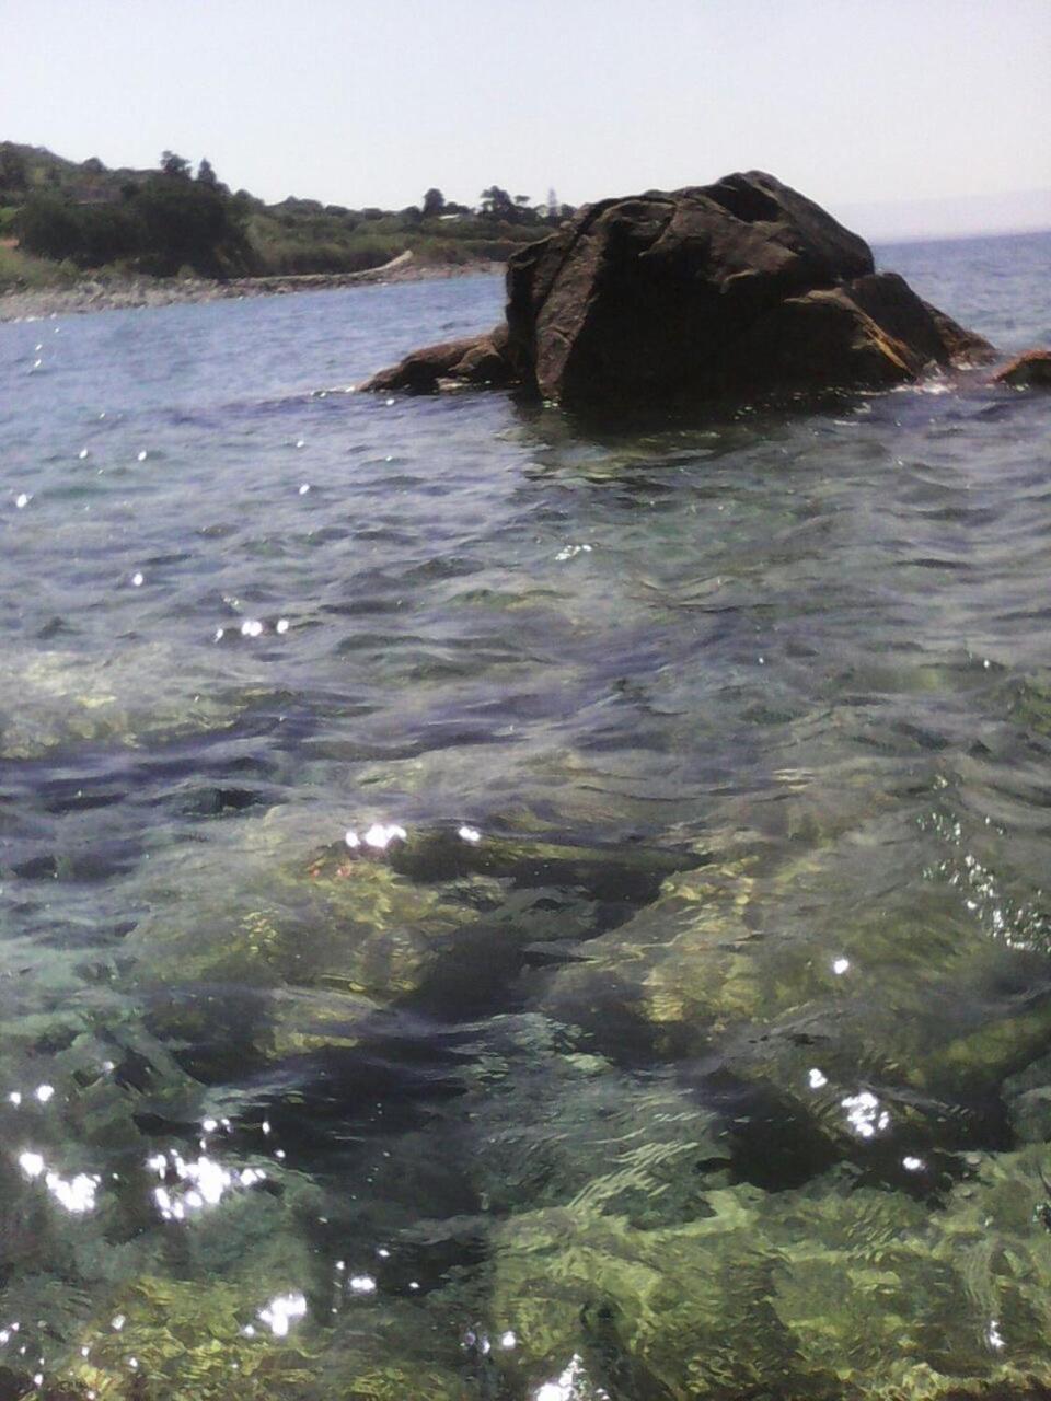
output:
[[[876,273],[862,238],[753,171],[582,209],[511,256],[503,338],[416,352],[364,388],[518,384],[601,403],[886,385],[988,354]]]

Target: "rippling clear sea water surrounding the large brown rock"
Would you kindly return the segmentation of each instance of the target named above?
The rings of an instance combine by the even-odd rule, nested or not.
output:
[[[1047,396],[348,388],[500,300],[0,326],[0,1397],[1051,1384]]]

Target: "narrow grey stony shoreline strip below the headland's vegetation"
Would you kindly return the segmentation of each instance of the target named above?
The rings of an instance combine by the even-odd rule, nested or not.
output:
[[[83,315],[90,311],[171,307],[192,301],[280,297],[398,282],[439,282],[446,277],[495,275],[503,269],[502,262],[420,263],[402,256],[366,272],[308,273],[297,277],[233,277],[228,282],[209,277],[129,277],[121,282],[84,277],[69,287],[11,289],[0,293],[0,322]]]

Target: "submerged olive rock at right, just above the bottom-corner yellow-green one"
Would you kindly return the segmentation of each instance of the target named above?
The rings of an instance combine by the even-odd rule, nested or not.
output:
[[[914,853],[908,906],[844,902],[863,890],[863,849],[852,832],[803,859],[730,850],[668,876],[577,960],[542,969],[531,1006],[621,1065],[682,1066],[737,1115],[750,1181],[845,1160],[928,1188],[944,1154],[1008,1139],[1001,1086],[1044,1054],[1051,991],[1043,955],[1019,947],[1031,916],[1003,877],[981,874],[998,936],[956,864],[929,863],[936,846]],[[816,908],[835,912],[828,925]]]

